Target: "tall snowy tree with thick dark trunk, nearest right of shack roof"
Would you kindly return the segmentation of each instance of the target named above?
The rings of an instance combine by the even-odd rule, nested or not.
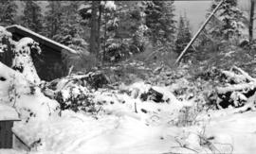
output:
[[[115,31],[114,1],[92,1],[82,4],[80,14],[82,19],[90,27],[90,53],[97,55],[99,59],[105,55],[107,40]],[[103,43],[103,44],[102,44]],[[101,52],[101,47],[103,52]],[[102,55],[100,53],[103,53]],[[103,58],[104,59],[104,58]]]

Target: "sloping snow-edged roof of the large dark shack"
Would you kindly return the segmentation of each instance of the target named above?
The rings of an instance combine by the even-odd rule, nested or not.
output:
[[[54,46],[56,46],[56,47],[58,47],[58,48],[61,48],[61,49],[66,50],[66,51],[68,51],[68,52],[70,52],[70,53],[72,53],[72,54],[77,54],[77,53],[78,53],[76,50],[71,49],[70,47],[67,47],[67,46],[65,46],[64,44],[57,43],[57,42],[55,42],[55,41],[53,41],[53,40],[50,40],[50,39],[46,38],[45,36],[42,36],[42,35],[40,35],[40,34],[34,32],[34,31],[32,31],[32,30],[27,29],[27,28],[24,27],[24,26],[13,25],[13,26],[7,26],[6,28],[7,28],[7,30],[9,30],[10,32],[17,32],[17,30],[20,30],[20,31],[23,31],[23,32],[25,32],[25,33],[28,33],[28,34],[30,34],[31,36],[34,36],[36,39],[41,40],[42,42],[40,42],[40,43],[50,43],[50,44],[52,44],[52,45],[54,45]],[[13,30],[14,30],[14,31],[13,31]],[[29,37],[29,36],[26,36],[26,37]],[[32,38],[32,39],[34,39],[34,38]],[[35,40],[35,41],[37,41],[37,40]]]

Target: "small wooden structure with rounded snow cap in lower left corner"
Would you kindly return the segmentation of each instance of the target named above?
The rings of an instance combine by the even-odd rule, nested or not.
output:
[[[18,113],[11,107],[0,104],[0,148],[12,148],[13,122],[19,121]]]

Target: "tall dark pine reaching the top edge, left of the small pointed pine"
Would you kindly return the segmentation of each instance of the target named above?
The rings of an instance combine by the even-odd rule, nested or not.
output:
[[[175,29],[174,1],[149,1],[145,13],[153,45],[172,47]]]

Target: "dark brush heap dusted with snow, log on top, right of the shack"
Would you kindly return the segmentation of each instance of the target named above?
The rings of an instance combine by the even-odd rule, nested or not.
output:
[[[43,91],[59,102],[62,111],[96,112],[98,104],[92,100],[93,92],[107,83],[108,80],[101,71],[89,72],[85,75],[71,74],[46,83]]]

